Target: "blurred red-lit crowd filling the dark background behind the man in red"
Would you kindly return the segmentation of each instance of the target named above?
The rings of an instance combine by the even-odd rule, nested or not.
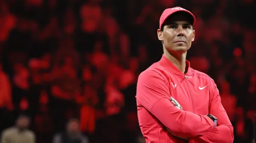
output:
[[[0,0],[2,141],[30,124],[37,143],[144,142],[136,80],[161,58],[159,18],[174,6],[196,17],[191,67],[215,80],[234,142],[251,142],[253,0]]]

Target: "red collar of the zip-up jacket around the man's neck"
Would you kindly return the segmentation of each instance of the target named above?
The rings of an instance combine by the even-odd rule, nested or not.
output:
[[[188,60],[186,60],[185,62],[186,65],[189,67],[188,72],[186,74],[190,75],[192,73],[192,70],[190,68],[190,62]],[[174,64],[168,58],[166,58],[164,54],[162,54],[162,58],[160,59],[159,63],[162,67],[164,67],[166,70],[172,73],[184,74],[176,66],[174,66]]]

